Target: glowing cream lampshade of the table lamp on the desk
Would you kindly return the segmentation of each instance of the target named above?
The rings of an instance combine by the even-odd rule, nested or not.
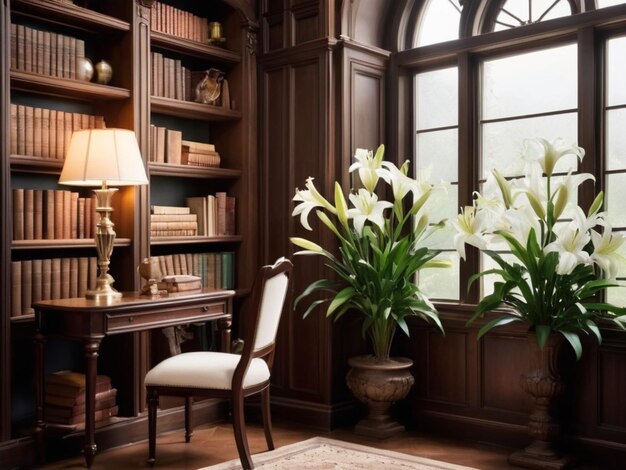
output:
[[[71,186],[148,184],[135,133],[84,129],[72,134],[59,183]]]

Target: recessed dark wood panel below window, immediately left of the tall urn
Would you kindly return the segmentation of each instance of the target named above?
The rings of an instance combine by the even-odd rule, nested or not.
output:
[[[528,369],[526,337],[489,334],[482,341],[482,406],[525,413],[531,404],[520,387],[520,374]]]

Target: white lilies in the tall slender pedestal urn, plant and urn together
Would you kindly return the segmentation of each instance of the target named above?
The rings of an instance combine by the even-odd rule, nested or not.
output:
[[[511,456],[510,462],[517,465],[538,468],[547,460],[556,465],[550,468],[566,464],[553,446],[560,427],[550,415],[550,402],[563,391],[556,368],[561,340],[580,358],[580,334],[601,341],[599,320],[610,318],[622,326],[626,313],[600,298],[605,289],[618,285],[614,280],[620,260],[617,250],[625,240],[613,233],[601,212],[603,193],[585,213],[575,197],[578,187],[593,176],[571,170],[555,176],[557,165],[568,159],[577,162],[584,155],[582,148],[560,139],[526,141],[525,176],[507,179],[493,170],[483,193],[476,192],[473,205],[462,209],[453,222],[459,254],[464,258],[465,244],[473,245],[496,265],[469,280],[471,285],[484,276],[497,278],[493,292],[480,300],[468,321],[499,312],[480,328],[478,338],[511,322],[528,325],[531,369],[521,383],[535,397],[529,422],[534,440]]]

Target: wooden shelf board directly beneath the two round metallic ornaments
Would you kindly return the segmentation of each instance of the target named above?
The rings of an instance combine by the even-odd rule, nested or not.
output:
[[[11,88],[81,101],[98,99],[124,100],[130,98],[130,90],[126,88],[100,85],[69,78],[51,77],[38,73],[22,72],[21,70],[11,70]]]

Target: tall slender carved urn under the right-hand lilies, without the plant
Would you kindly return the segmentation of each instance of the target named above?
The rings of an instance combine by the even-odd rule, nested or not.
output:
[[[524,450],[509,457],[511,465],[562,469],[572,463],[571,457],[561,454],[555,447],[561,436],[561,424],[553,410],[565,389],[557,367],[563,341],[562,335],[551,334],[543,349],[540,349],[535,333],[528,333],[530,370],[522,374],[520,384],[534,398],[528,422],[528,434],[532,442]]]

